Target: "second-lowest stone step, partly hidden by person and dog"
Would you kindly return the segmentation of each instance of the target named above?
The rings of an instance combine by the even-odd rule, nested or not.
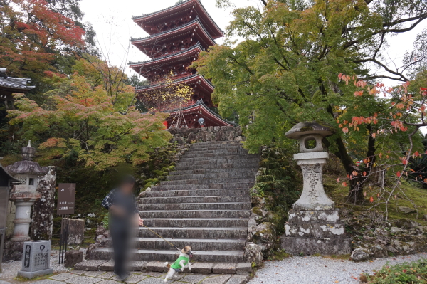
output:
[[[202,262],[243,262],[243,250],[241,251],[194,251],[191,261]],[[132,250],[130,257],[133,261],[176,261],[179,251],[176,250]],[[90,251],[93,260],[110,260],[112,248],[95,248]]]

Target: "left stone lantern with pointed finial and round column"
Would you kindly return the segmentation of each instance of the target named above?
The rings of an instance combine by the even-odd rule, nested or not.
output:
[[[33,162],[35,153],[36,148],[31,147],[31,142],[28,142],[27,147],[22,147],[22,160],[6,167],[9,174],[22,182],[15,186],[9,196],[16,206],[14,235],[11,238],[14,242],[30,240],[28,232],[32,221],[31,206],[41,198],[41,193],[37,191],[38,177],[48,172],[47,167],[40,167],[37,162]]]

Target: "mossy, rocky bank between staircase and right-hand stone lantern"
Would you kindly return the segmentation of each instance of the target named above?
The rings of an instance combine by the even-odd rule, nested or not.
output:
[[[251,228],[248,239],[262,247],[265,258],[278,245],[277,236],[284,233],[288,211],[302,190],[302,177],[295,166],[285,149],[263,149],[255,185],[251,188],[251,219],[258,226]]]

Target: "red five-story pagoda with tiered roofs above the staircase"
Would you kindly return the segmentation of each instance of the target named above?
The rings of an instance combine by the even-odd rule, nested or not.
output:
[[[196,70],[189,68],[200,51],[214,46],[214,40],[223,36],[223,31],[206,12],[201,1],[179,1],[167,9],[134,16],[133,21],[149,36],[132,38],[131,43],[152,58],[130,63],[130,68],[150,82],[137,88],[139,98],[156,95],[165,85],[188,85],[193,93],[184,106],[180,105],[179,109],[176,105],[162,106],[162,111],[170,113],[168,127],[231,125],[209,108],[214,106],[211,101],[214,86]],[[177,112],[184,118],[178,123],[175,122]]]

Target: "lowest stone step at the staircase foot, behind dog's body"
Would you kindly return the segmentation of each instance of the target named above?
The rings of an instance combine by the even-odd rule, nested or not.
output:
[[[164,261],[131,261],[128,269],[132,272],[154,272],[167,273],[169,268],[164,266]],[[114,261],[95,261],[88,260],[77,263],[74,270],[84,271],[112,271],[114,270]],[[242,284],[251,278],[251,263],[191,263],[191,271],[186,268],[183,273],[196,275],[228,275],[228,278],[218,278],[218,283],[224,284]],[[209,282],[211,283],[211,282]],[[212,283],[216,284],[216,283]]]

